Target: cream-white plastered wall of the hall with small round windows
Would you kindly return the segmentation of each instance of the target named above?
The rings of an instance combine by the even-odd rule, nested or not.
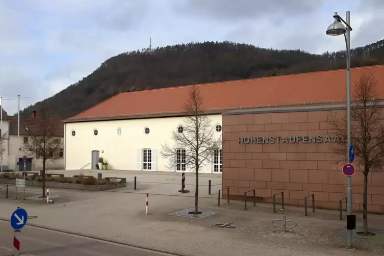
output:
[[[210,115],[214,129],[221,125],[221,115]],[[160,155],[162,145],[173,144],[172,131],[184,123],[184,117],[148,118],[113,121],[76,122],[65,124],[65,169],[91,169],[92,150],[99,151],[99,157],[108,161],[108,169],[142,170],[142,149],[152,149],[154,168],[157,171],[175,171],[168,168],[168,159]],[[150,129],[144,133],[145,127]],[[118,135],[118,129],[121,135]],[[93,131],[97,129],[97,136]],[[75,136],[72,136],[75,131]],[[217,138],[221,132],[214,131]],[[156,152],[156,154],[155,154]],[[139,156],[140,154],[140,156]],[[140,161],[140,162],[138,162]],[[202,172],[212,172],[212,165],[206,165]]]

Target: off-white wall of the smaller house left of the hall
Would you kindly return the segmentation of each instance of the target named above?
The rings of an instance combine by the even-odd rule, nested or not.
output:
[[[19,150],[19,148],[22,148],[24,137],[27,137],[25,135],[20,135],[19,139],[17,139],[17,135],[10,135],[9,136],[9,168],[10,169],[17,169],[16,162],[18,158],[22,158],[24,155],[28,158],[33,158],[32,160],[32,170],[33,171],[39,171],[43,168],[43,162],[42,159],[36,159],[35,156],[28,155],[23,150]],[[28,136],[29,140],[31,139],[31,136]],[[57,137],[58,139],[63,140],[63,137]],[[45,163],[46,169],[64,169],[64,158],[58,159],[56,161],[50,161],[47,160]]]

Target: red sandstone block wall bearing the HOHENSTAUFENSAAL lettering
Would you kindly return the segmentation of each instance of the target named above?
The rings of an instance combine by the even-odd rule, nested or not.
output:
[[[343,111],[334,111],[344,115]],[[285,203],[303,206],[304,196],[315,194],[315,207],[338,209],[345,198],[347,178],[334,143],[239,144],[238,137],[326,136],[331,134],[329,111],[223,115],[223,188],[240,199],[245,191],[271,202],[284,191]],[[352,208],[363,210],[363,172],[352,176]],[[223,191],[226,193],[226,191]],[[312,205],[312,202],[309,202]],[[345,200],[343,207],[346,208]],[[384,172],[368,176],[368,211],[384,213]]]

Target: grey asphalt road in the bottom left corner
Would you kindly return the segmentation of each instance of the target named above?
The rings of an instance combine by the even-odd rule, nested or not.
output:
[[[12,256],[13,233],[9,222],[0,221],[1,256]],[[24,226],[21,229],[19,255],[165,256],[170,254]]]

